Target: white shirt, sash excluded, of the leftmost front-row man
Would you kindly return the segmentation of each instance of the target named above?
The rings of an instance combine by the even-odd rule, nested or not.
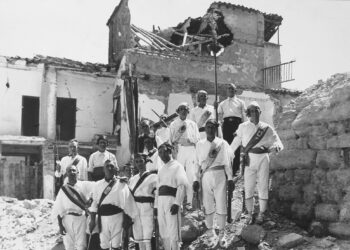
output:
[[[77,183],[72,186],[78,193],[85,197],[85,200],[89,200],[92,197],[92,192],[95,186],[95,182],[92,181],[77,181]],[[55,203],[52,209],[52,215],[57,217],[57,215],[63,217],[69,212],[83,213],[84,211],[74,204],[62,189],[57,194]]]

